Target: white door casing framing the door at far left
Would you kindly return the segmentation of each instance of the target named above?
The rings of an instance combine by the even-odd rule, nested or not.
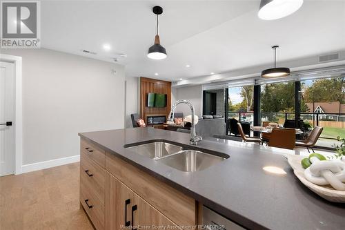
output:
[[[0,61],[10,61],[15,68],[15,174],[21,174],[23,159],[23,92],[22,92],[22,58],[0,53]]]

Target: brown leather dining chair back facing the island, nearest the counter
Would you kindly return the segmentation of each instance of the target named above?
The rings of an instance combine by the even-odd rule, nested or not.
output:
[[[293,149],[295,148],[295,142],[295,128],[273,128],[268,146]]]

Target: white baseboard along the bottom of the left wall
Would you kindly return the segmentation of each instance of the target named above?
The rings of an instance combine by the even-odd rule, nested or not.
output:
[[[47,160],[45,162],[37,162],[33,164],[24,164],[21,166],[21,173],[28,173],[41,169],[48,169],[63,164],[71,164],[80,161],[80,155],[73,155],[71,157],[63,157],[55,160]]]

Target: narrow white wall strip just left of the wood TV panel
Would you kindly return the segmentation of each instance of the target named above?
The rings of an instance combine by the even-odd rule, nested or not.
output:
[[[132,127],[130,115],[139,113],[139,77],[126,77],[126,113],[125,127]]]

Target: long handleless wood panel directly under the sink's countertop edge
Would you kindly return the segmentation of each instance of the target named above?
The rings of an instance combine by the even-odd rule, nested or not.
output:
[[[106,153],[106,170],[177,225],[197,224],[196,202],[193,198],[111,153]]]

